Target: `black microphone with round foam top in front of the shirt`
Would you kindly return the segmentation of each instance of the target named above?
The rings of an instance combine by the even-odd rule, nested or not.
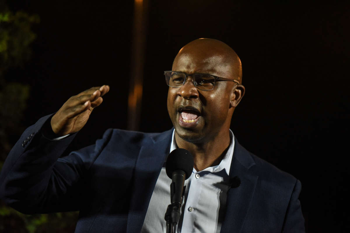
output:
[[[173,150],[166,163],[166,173],[172,183],[170,184],[170,201],[165,214],[165,220],[168,224],[176,225],[180,218],[180,209],[182,205],[182,196],[184,193],[184,182],[188,179],[193,171],[193,156],[188,150],[175,149]]]

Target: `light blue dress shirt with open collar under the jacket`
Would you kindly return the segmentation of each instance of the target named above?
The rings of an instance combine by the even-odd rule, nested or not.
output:
[[[173,131],[170,152],[177,148]],[[197,172],[193,168],[185,181],[184,203],[182,205],[177,233],[219,233],[226,212],[226,197],[229,189],[229,173],[235,147],[230,130],[231,142],[226,155],[217,166]],[[166,233],[165,212],[170,204],[170,183],[165,167],[162,168],[149,202],[142,233]]]

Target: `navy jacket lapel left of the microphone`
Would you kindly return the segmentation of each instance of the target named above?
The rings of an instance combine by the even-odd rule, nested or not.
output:
[[[141,147],[134,171],[127,233],[141,231],[156,181],[169,154],[172,132],[173,129],[150,138]]]

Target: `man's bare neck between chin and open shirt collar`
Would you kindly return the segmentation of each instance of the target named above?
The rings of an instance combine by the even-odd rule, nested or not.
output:
[[[193,155],[196,171],[202,171],[207,167],[218,165],[224,158],[230,145],[230,130],[205,143],[187,142],[175,131],[175,141],[179,148],[186,149]]]

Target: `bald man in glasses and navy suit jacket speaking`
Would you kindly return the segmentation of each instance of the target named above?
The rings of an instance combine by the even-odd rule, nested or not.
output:
[[[197,39],[165,76],[174,129],[109,129],[95,145],[59,158],[109,91],[91,88],[23,133],[1,171],[1,198],[24,213],[79,210],[76,232],[165,232],[171,181],[163,164],[184,148],[194,170],[177,232],[304,232],[300,182],[246,151],[230,131],[245,91],[236,53]]]

